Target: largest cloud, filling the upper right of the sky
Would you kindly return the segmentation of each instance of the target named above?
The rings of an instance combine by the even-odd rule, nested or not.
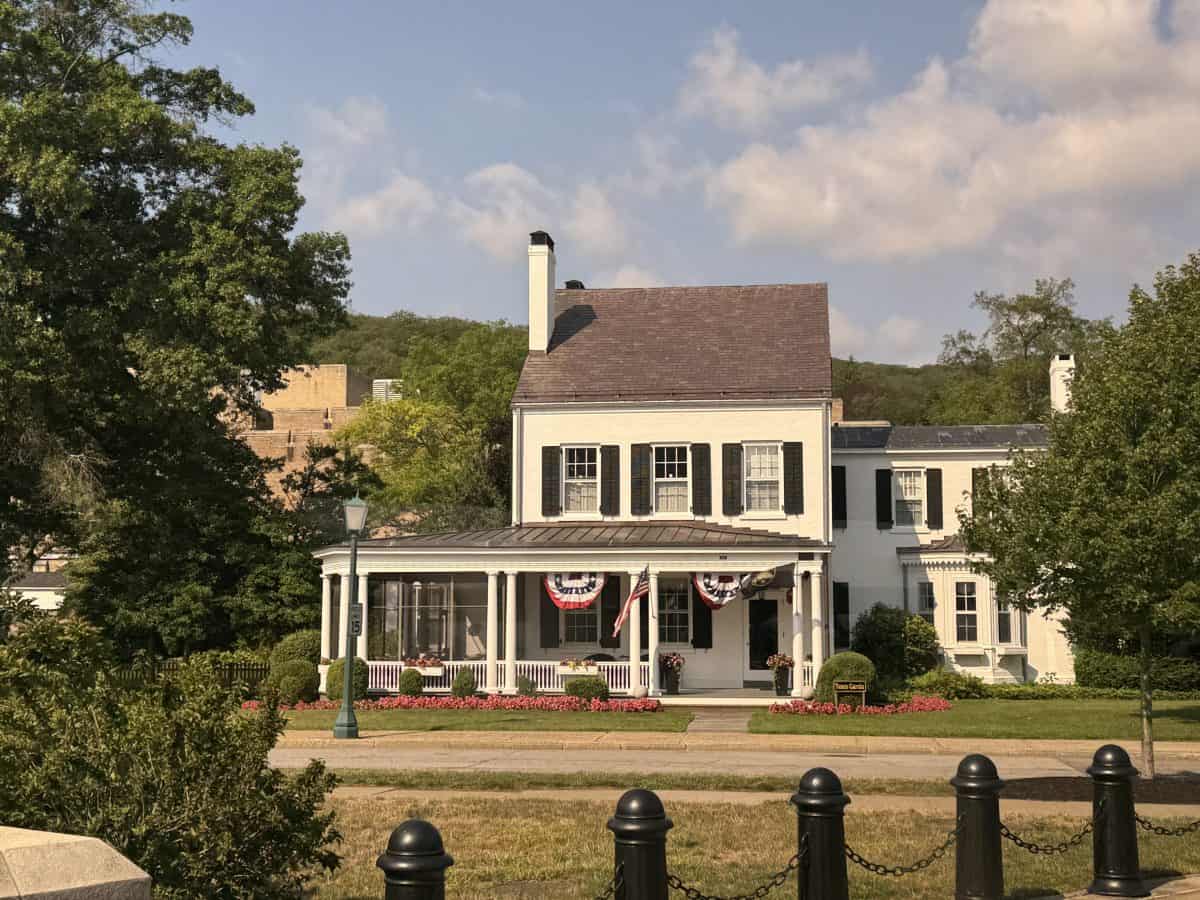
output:
[[[1157,14],[1152,0],[990,0],[961,59],[745,146],[709,200],[742,242],[835,259],[918,259],[1076,221],[1086,253],[1097,210],[1136,232],[1153,198],[1200,179],[1200,13],[1176,8],[1170,37]]]

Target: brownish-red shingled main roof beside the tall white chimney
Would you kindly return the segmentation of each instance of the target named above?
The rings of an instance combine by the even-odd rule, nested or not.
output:
[[[832,395],[824,284],[557,290],[514,403]]]

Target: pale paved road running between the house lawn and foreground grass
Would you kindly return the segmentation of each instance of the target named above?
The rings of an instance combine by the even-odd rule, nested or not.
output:
[[[950,778],[959,755],[943,754],[830,754],[754,750],[575,750],[575,749],[468,749],[418,745],[284,746],[271,751],[275,766],[304,766],[324,760],[332,768],[455,769],[466,772],[637,772],[722,773],[732,775],[791,775],[824,766],[844,778]],[[995,755],[1003,778],[1082,775],[1091,762],[1076,756]],[[1194,761],[1163,760],[1159,770],[1186,772]]]

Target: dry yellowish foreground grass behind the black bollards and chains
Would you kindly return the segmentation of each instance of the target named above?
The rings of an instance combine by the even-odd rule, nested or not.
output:
[[[594,898],[612,877],[612,833],[605,823],[607,803],[458,797],[409,802],[372,797],[332,802],[346,835],[338,847],[342,868],[310,886],[316,900],[366,900],[382,896],[376,859],[388,835],[410,816],[433,822],[455,858],[446,895],[456,900]],[[796,852],[796,812],[778,802],[736,805],[683,804],[667,808],[674,828],[667,840],[667,865],[706,894],[740,894],[764,882]],[[1157,818],[1156,818],[1157,821]],[[1080,827],[1078,817],[1025,818],[1012,822],[1021,836],[1062,840]],[[943,840],[949,815],[871,811],[846,815],[846,839],[872,862],[911,863]],[[1168,823],[1164,820],[1164,824]],[[1177,824],[1177,823],[1176,823]],[[1139,834],[1144,870],[1200,870],[1200,841]],[[1091,881],[1091,841],[1064,856],[1032,856],[1004,842],[1004,883],[1013,898],[1072,892]],[[930,868],[902,878],[871,875],[850,866],[854,900],[928,900],[954,895],[954,852]],[[674,896],[674,894],[672,894]],[[796,882],[770,894],[796,896]]]

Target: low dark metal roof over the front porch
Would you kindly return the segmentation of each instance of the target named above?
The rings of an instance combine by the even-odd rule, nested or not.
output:
[[[478,532],[412,534],[359,541],[362,548],[596,548],[596,547],[781,547],[823,546],[811,538],[733,528],[708,522],[553,522]]]

